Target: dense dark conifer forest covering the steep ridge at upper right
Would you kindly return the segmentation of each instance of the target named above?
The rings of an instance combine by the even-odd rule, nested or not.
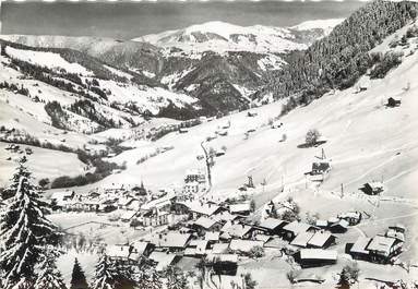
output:
[[[291,53],[263,93],[283,98],[298,95],[308,104],[331,89],[344,89],[377,61],[369,51],[416,19],[418,3],[377,0],[353,13],[308,50]]]

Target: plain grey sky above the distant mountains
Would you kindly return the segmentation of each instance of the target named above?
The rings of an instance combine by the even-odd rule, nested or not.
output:
[[[12,2],[1,4],[2,34],[131,39],[208,21],[291,26],[346,17],[360,1]]]

